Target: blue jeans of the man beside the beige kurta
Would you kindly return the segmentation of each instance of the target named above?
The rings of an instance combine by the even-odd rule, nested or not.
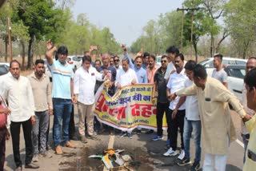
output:
[[[190,138],[194,131],[195,159],[194,162],[201,161],[201,121],[189,121],[184,117],[184,150],[185,157],[190,158]]]

